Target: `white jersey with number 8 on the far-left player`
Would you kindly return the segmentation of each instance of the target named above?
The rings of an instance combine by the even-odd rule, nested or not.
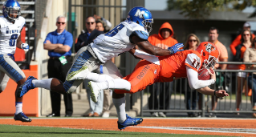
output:
[[[18,16],[14,24],[0,16],[0,54],[15,53],[17,39],[24,25],[25,18],[22,16]]]

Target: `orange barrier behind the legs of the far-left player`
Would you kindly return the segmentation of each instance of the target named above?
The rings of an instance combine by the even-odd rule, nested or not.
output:
[[[37,65],[30,66],[30,70],[22,70],[26,78],[33,75],[38,78]],[[14,80],[9,79],[5,91],[0,94],[0,116],[14,116],[15,113],[15,90],[17,83]],[[39,116],[39,92],[35,88],[30,90],[26,95],[23,96],[22,111],[27,116]]]

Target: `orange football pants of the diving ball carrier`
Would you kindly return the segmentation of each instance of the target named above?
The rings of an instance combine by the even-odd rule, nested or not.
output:
[[[155,83],[158,79],[159,72],[161,70],[160,65],[156,65],[146,60],[141,60],[137,63],[132,74],[127,75],[123,79],[131,83],[131,91],[115,90],[116,94],[123,93],[136,93],[137,91],[144,90],[148,85]]]

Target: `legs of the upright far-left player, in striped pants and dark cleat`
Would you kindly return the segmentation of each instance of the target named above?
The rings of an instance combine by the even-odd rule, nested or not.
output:
[[[17,93],[18,87],[20,87],[25,81],[25,75],[23,71],[14,62],[12,57],[9,55],[0,55],[0,80],[1,80],[1,91],[4,91],[6,84],[10,79],[13,79],[18,85],[15,91]],[[15,107],[16,111],[14,114],[14,119],[22,122],[31,122],[31,119],[26,117],[22,112],[22,100],[23,98],[15,97]]]

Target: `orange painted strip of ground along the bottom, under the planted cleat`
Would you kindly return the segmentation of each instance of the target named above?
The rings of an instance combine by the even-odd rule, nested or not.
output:
[[[31,123],[15,122],[14,119],[0,119],[0,121],[1,124],[10,125],[120,131],[117,128],[117,119],[32,119]],[[123,131],[186,135],[256,136],[255,123],[256,119],[144,119],[140,125],[126,127]],[[175,127],[177,129],[167,129],[164,127]],[[201,127],[205,130],[185,130],[181,129],[181,127]],[[217,131],[213,131],[216,128]],[[224,129],[224,131],[220,129]],[[228,129],[233,129],[233,131]],[[235,131],[235,129],[242,129],[244,131],[239,132]],[[253,129],[254,132],[246,133],[246,129]]]

